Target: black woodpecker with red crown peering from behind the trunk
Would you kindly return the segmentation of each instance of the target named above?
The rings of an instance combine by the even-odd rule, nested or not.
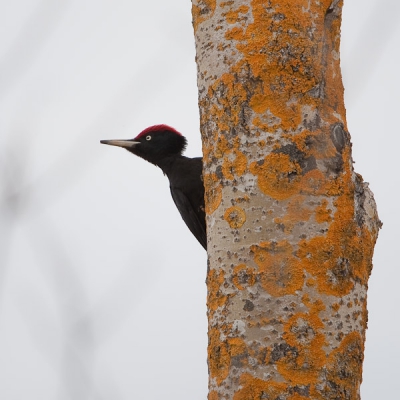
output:
[[[162,124],[144,129],[133,139],[100,140],[100,143],[122,147],[161,168],[169,179],[172,199],[183,221],[207,250],[203,160],[182,154],[187,146],[186,138]]]

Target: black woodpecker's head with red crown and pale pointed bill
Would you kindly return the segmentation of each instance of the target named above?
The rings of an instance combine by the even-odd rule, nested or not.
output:
[[[100,143],[123,147],[155,165],[169,156],[181,155],[186,138],[168,125],[154,125],[140,132],[134,139],[101,140]]]

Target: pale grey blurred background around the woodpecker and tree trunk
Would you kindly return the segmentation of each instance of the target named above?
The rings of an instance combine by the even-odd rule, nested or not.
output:
[[[167,123],[201,154],[190,1],[0,10],[0,398],[204,400],[206,254],[161,170],[99,144]],[[384,222],[363,400],[395,398],[400,372],[399,11],[343,13],[355,168]]]

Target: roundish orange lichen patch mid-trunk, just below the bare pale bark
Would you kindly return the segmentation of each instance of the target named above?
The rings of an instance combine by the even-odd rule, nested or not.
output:
[[[270,295],[285,296],[301,289],[303,267],[289,242],[261,242],[250,249],[258,265],[261,285]]]

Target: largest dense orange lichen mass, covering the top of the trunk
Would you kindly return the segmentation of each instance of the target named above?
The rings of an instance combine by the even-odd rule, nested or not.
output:
[[[236,40],[242,55],[232,72],[238,73],[243,65],[249,65],[253,77],[263,82],[253,91],[250,107],[259,114],[269,110],[285,131],[294,130],[301,123],[302,104],[318,103],[313,91],[322,84],[324,69],[313,54],[321,53],[324,43],[323,23],[318,21],[324,3],[284,1],[265,7],[264,1],[253,0],[253,23],[246,29],[235,27],[226,33],[228,40]],[[314,18],[310,19],[310,15]],[[307,34],[310,31],[311,39]]]

